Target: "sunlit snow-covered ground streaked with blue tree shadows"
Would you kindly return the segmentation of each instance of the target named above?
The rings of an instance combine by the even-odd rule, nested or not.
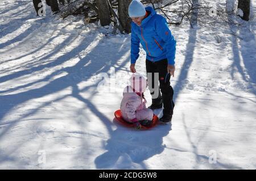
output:
[[[242,40],[170,27],[175,112],[172,124],[150,131],[114,121],[130,35],[105,36],[108,29],[81,17],[50,14],[47,7],[36,18],[30,0],[0,1],[0,169],[256,168],[255,0],[251,31],[236,32]],[[136,65],[143,75],[145,56]],[[109,91],[98,91],[101,75]],[[148,90],[146,98],[149,106]]]

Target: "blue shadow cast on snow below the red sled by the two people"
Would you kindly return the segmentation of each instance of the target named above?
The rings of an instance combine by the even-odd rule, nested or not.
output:
[[[118,125],[114,119],[113,122]],[[147,169],[143,161],[163,152],[163,137],[171,131],[171,124],[136,131],[118,125],[106,142],[106,151],[95,159],[97,169]]]

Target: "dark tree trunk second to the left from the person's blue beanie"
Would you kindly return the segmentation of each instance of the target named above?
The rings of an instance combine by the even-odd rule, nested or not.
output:
[[[108,0],[96,0],[98,7],[98,17],[100,18],[101,26],[107,26],[110,22],[110,11]]]

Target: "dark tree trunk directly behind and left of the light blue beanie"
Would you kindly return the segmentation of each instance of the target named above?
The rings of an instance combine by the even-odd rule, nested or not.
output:
[[[128,15],[128,7],[132,0],[118,0],[118,16],[126,33],[131,32],[131,19]]]

